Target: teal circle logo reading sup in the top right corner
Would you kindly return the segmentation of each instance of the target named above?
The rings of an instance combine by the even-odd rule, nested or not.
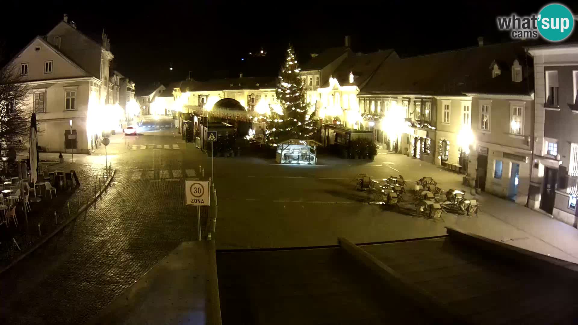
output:
[[[538,31],[551,42],[560,42],[572,34],[574,16],[560,3],[551,3],[538,13]]]

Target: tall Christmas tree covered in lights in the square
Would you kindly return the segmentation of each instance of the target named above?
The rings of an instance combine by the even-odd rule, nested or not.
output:
[[[287,49],[287,56],[279,78],[276,97],[283,114],[271,111],[268,142],[282,143],[288,139],[313,139],[315,127],[305,96],[305,81],[301,78],[299,65],[293,47]]]

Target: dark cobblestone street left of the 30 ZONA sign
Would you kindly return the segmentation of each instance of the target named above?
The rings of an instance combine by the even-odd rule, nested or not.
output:
[[[0,275],[1,324],[83,323],[180,242],[197,239],[196,209],[184,206],[173,177],[185,174],[176,138],[135,140],[163,149],[113,157],[117,183],[96,206]]]

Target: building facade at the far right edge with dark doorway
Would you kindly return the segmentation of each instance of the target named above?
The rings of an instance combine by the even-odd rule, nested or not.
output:
[[[578,226],[578,46],[529,47],[535,71],[529,205]]]

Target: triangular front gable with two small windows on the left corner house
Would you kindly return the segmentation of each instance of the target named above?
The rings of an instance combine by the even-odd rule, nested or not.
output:
[[[51,73],[45,73],[46,61],[52,61]],[[10,64],[12,64],[14,68],[16,68],[16,72],[19,73],[20,66],[23,63],[28,63],[28,75],[23,76],[24,82],[90,76],[86,71],[66,58],[64,54],[58,52],[58,50],[54,49],[54,47],[39,37],[36,37],[24,47],[24,49],[12,59]]]

